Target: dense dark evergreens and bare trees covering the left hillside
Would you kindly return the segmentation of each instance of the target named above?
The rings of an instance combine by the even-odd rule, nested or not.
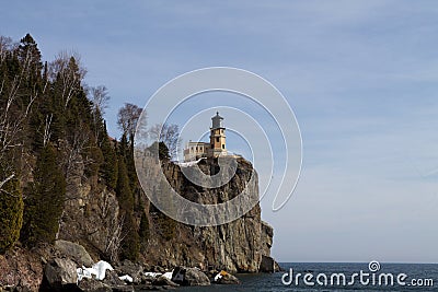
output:
[[[134,162],[141,108],[125,104],[122,137],[111,138],[103,118],[108,91],[87,85],[85,74],[78,54],[61,51],[47,62],[30,34],[19,43],[0,36],[0,254],[18,242],[53,243],[78,179],[115,191],[123,222],[116,256],[137,259],[148,240]],[[150,135],[162,141],[161,159],[176,155],[176,125],[153,125]]]

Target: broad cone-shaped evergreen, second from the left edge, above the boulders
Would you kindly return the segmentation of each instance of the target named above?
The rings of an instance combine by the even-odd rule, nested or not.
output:
[[[66,180],[58,166],[54,147],[47,144],[39,153],[34,182],[27,189],[21,238],[27,245],[55,241],[59,229],[66,194]]]

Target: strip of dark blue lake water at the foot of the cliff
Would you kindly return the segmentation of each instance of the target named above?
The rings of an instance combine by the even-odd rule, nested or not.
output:
[[[183,287],[175,291],[438,291],[438,265],[436,264],[382,262],[380,268],[373,266],[371,270],[368,262],[283,262],[280,266],[285,269],[284,272],[238,275],[242,281],[240,285]],[[288,284],[290,268],[292,268],[293,281]],[[360,271],[362,271],[361,279]],[[288,272],[287,277],[283,277],[285,272]],[[297,280],[298,273],[301,276]],[[354,276],[355,273],[357,275]],[[307,276],[308,284],[304,283],[304,275],[311,275]],[[343,276],[345,276],[345,282]],[[285,278],[286,284],[283,283],[281,278]],[[327,284],[325,284],[325,279]],[[331,284],[332,279],[333,284]],[[310,285],[311,283],[313,285]]]

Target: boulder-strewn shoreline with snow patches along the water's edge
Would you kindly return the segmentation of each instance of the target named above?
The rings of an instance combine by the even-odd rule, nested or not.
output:
[[[274,266],[270,271],[275,271]],[[83,246],[67,241],[32,250],[19,246],[0,256],[0,291],[157,291],[239,283],[224,270],[184,266],[170,269],[129,260],[94,262]]]

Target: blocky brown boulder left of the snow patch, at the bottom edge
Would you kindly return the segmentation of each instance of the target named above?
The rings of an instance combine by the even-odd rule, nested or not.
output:
[[[61,290],[62,287],[77,283],[76,268],[71,259],[55,258],[44,267],[44,277],[53,290]]]

